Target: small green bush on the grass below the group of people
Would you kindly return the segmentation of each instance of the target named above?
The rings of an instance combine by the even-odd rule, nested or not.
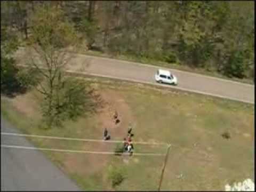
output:
[[[124,178],[124,170],[118,167],[109,167],[109,179],[111,180],[111,186],[115,188],[120,185]]]

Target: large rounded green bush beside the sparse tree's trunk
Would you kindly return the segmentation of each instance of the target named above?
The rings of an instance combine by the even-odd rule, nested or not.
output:
[[[95,103],[86,90],[86,83],[74,77],[55,85],[51,100],[45,98],[41,106],[44,122],[49,128],[52,125],[61,127],[67,119],[76,121],[79,116],[94,111],[94,108]]]

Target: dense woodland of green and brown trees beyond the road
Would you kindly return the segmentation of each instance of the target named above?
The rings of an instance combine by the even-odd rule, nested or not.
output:
[[[254,77],[253,1],[1,2],[3,25],[26,39],[46,4],[63,11],[88,49]]]

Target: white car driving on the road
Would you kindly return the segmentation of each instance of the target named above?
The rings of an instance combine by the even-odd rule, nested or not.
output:
[[[178,85],[177,78],[167,70],[158,69],[155,74],[155,79],[158,83]]]

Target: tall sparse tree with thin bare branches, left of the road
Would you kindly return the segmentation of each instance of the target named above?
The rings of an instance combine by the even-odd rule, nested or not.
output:
[[[65,84],[63,70],[70,61],[70,46],[77,47],[73,26],[65,21],[58,6],[38,8],[33,15],[33,27],[29,38],[30,67],[44,77],[36,89],[44,96],[44,115],[49,127],[61,113],[61,89]],[[56,25],[58,23],[58,25]]]

